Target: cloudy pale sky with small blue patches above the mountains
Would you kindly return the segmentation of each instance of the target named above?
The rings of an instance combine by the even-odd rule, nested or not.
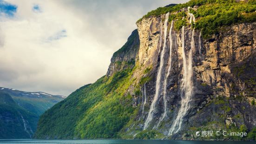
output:
[[[0,0],[0,87],[68,96],[106,74],[147,12],[188,0]]]

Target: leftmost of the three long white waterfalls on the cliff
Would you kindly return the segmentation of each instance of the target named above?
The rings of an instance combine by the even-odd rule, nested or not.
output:
[[[158,74],[157,74],[157,81],[156,81],[156,94],[155,94],[154,99],[151,103],[150,110],[149,110],[148,116],[146,118],[146,121],[144,123],[143,130],[147,129],[147,127],[149,126],[149,123],[151,122],[151,120],[153,118],[153,114],[154,114],[155,109],[156,109],[156,103],[157,103],[158,97],[159,97],[160,85],[161,85],[161,75],[162,75],[162,69],[163,69],[163,65],[164,65],[164,53],[165,53],[165,47],[166,47],[168,18],[169,18],[169,13],[166,13],[165,21],[164,21],[164,46],[163,46],[163,50],[162,50],[161,55],[160,55],[160,65],[159,65]],[[162,44],[161,39],[162,39],[162,22],[160,22],[160,48],[161,48],[161,44]]]

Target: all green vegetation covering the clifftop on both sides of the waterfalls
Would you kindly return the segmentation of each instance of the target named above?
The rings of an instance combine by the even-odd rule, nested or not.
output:
[[[203,38],[209,38],[210,35],[221,31],[223,26],[241,22],[255,22],[255,3],[255,0],[249,0],[248,2],[236,2],[236,0],[190,0],[185,4],[178,4],[172,7],[159,7],[144,15],[142,19],[170,12],[169,21],[175,20],[174,27],[179,30],[182,26],[187,25],[187,21],[182,20],[182,17],[186,14],[184,12],[175,12],[182,10],[184,7],[200,6],[197,10],[190,9],[190,13],[193,13],[197,18],[196,23],[192,24],[192,26],[202,30]],[[138,20],[138,22],[142,19]]]

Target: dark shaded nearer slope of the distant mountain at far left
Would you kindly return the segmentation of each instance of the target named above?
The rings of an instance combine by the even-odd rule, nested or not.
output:
[[[13,98],[7,94],[0,92],[0,139],[3,138],[31,138],[36,130],[36,124],[39,117],[32,112],[27,111],[20,105],[16,104]],[[24,129],[25,123],[27,131]],[[26,123],[26,124],[27,124]],[[31,130],[31,131],[30,131]]]

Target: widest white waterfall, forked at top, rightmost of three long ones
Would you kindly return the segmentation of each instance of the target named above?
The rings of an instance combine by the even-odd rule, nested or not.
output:
[[[190,16],[190,24],[195,22],[195,17],[192,13],[189,12],[190,7],[188,7],[188,14]],[[191,47],[188,54],[188,62],[186,59],[186,50],[185,50],[185,35],[184,35],[185,27],[182,27],[182,59],[183,59],[183,69],[184,74],[181,80],[181,107],[178,111],[177,118],[174,120],[171,129],[169,131],[169,135],[173,133],[177,133],[181,129],[181,125],[184,119],[184,116],[187,114],[187,111],[190,109],[190,102],[193,92],[193,69],[192,69],[192,50],[195,47],[194,34],[195,30],[192,30],[191,34]]]

